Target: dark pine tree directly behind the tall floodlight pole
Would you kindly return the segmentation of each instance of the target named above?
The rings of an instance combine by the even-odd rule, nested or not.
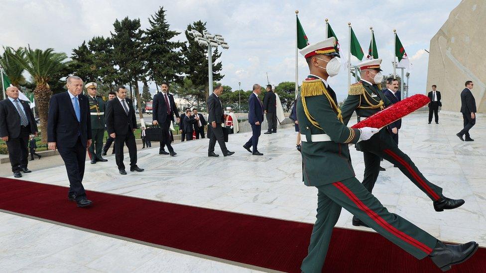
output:
[[[200,46],[194,41],[194,37],[189,33],[193,29],[203,33],[206,30],[206,23],[199,20],[187,26],[185,34],[188,42],[182,47],[182,53],[185,58],[185,73],[194,86],[204,86],[204,91],[201,91],[203,93],[201,97],[204,97],[204,101],[207,101],[209,89],[208,48]],[[225,77],[225,75],[220,73],[223,64],[221,62],[216,63],[220,57],[221,53],[218,52],[218,49],[215,49],[213,51],[213,81],[215,82],[219,82]]]

